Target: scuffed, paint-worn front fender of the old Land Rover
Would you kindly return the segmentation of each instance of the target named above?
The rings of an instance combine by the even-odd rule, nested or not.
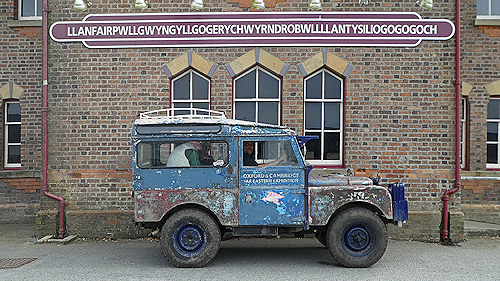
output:
[[[337,209],[356,202],[373,205],[385,218],[393,219],[391,193],[384,187],[377,185],[312,186],[309,187],[309,224],[326,225]]]

